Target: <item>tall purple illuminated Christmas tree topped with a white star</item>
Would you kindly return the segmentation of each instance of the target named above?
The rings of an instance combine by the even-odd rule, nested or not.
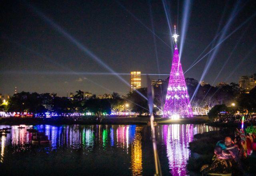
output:
[[[176,29],[172,37],[175,41],[175,47],[163,117],[172,119],[179,118],[180,116],[193,117],[188,90],[180,63],[180,56],[177,47],[178,35],[176,34]]]

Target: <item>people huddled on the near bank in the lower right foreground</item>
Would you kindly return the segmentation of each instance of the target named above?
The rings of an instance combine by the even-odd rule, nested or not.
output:
[[[244,175],[246,166],[243,161],[256,154],[256,133],[253,130],[250,133],[247,131],[236,129],[233,140],[227,136],[224,141],[218,141],[212,164],[202,166],[202,175]]]

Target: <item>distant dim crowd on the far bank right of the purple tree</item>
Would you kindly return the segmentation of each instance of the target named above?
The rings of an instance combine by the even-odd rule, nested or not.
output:
[[[223,123],[228,123],[228,122],[240,123],[241,120],[242,120],[242,115],[225,114],[225,115],[222,115],[221,118],[216,118],[213,121],[223,122]],[[244,122],[256,124],[256,115],[245,116]]]

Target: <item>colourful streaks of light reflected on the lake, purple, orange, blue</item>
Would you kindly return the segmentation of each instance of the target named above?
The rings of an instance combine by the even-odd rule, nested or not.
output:
[[[5,127],[0,126],[0,129]],[[10,160],[15,161],[15,158],[9,158],[9,160],[5,158],[6,152],[12,152],[15,155],[20,151],[32,150],[32,134],[27,132],[26,128],[34,128],[39,132],[44,132],[51,140],[50,145],[44,146],[47,148],[46,151],[59,151],[65,148],[72,151],[82,150],[83,154],[91,154],[92,156],[107,154],[109,158],[106,160],[113,160],[114,158],[120,166],[126,168],[127,165],[127,171],[124,173],[130,173],[134,176],[154,173],[154,158],[152,158],[152,143],[150,142],[150,128],[148,126],[36,125],[24,126],[26,127],[24,129],[18,129],[19,126],[11,127],[10,134],[2,136],[0,139],[0,163],[6,162],[8,164]],[[189,142],[193,140],[194,134],[212,130],[218,130],[218,128],[193,124],[156,126],[162,168],[166,168],[173,176],[188,174],[186,162],[190,156]],[[122,158],[120,161],[118,160],[119,157]],[[128,162],[124,161],[126,158]],[[94,157],[86,158],[84,156],[82,160],[94,160]],[[79,163],[76,164],[79,165]],[[118,168],[119,166],[114,167]],[[168,173],[164,173],[164,175],[166,174]]]

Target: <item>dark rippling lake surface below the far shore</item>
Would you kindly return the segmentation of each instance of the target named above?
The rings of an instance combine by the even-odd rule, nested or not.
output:
[[[6,126],[0,126],[0,129],[4,127]],[[87,175],[115,173],[116,175],[140,176],[154,174],[154,158],[150,141],[150,127],[148,126],[26,126],[26,128],[34,128],[39,132],[44,132],[48,136],[51,144],[44,146],[32,146],[32,133],[27,132],[26,128],[11,127],[11,133],[7,134],[6,137],[2,136],[0,140],[0,166],[1,164],[3,166],[12,164],[13,167],[26,166],[26,163],[24,164],[20,159],[24,158],[29,163],[26,168],[36,167],[33,166],[36,165],[33,163],[35,159],[38,160],[39,165],[44,160],[50,160],[53,163],[64,162],[66,164],[64,170],[69,170],[69,167],[73,168],[72,174],[81,174],[80,171],[83,170]],[[163,174],[186,175],[186,163],[190,156],[189,142],[193,140],[194,134],[212,130],[218,130],[218,128],[193,124],[156,126]],[[45,154],[50,156],[45,156]],[[55,172],[51,169],[54,168],[49,166],[47,172]],[[101,172],[102,169],[108,171]],[[34,174],[33,170],[30,171],[28,170],[28,175]]]

